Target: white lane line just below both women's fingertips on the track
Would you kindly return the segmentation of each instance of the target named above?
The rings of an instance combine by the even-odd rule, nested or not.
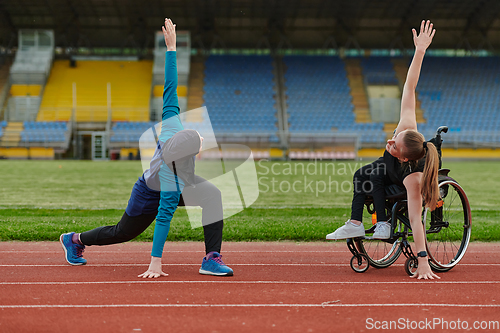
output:
[[[426,281],[434,284],[500,284],[500,281]],[[426,283],[422,281],[422,283]],[[161,281],[161,280],[132,280],[132,281],[36,281],[36,282],[0,282],[2,285],[92,285],[92,284],[415,284],[414,280],[408,281],[227,281],[227,280],[198,280],[198,281]]]

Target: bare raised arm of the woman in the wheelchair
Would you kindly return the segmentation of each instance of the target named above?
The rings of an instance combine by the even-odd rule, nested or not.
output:
[[[396,133],[407,129],[417,129],[417,117],[415,114],[415,89],[417,88],[418,79],[420,77],[420,69],[424,60],[425,51],[432,42],[435,29],[432,29],[433,24],[430,21],[422,21],[420,25],[420,34],[417,36],[417,31],[412,29],[413,43],[415,44],[415,54],[408,69],[406,81],[403,87],[403,96],[401,97],[401,116],[399,119]]]

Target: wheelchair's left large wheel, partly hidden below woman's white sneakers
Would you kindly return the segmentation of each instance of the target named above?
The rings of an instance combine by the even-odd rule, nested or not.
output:
[[[408,228],[398,221],[394,232],[404,232]],[[396,260],[398,260],[401,255],[401,238],[398,238],[394,243],[390,243],[386,240],[371,239],[365,237],[356,242],[358,251],[364,253],[370,265],[375,268],[386,268],[392,265]]]

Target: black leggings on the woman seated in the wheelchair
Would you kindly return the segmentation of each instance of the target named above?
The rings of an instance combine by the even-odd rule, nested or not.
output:
[[[384,187],[389,183],[390,180],[387,177],[387,168],[383,157],[359,168],[353,177],[354,195],[351,206],[351,220],[363,221],[366,195],[370,194],[373,196],[377,222],[387,221]]]

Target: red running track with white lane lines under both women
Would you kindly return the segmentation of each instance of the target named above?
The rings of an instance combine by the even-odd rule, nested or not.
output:
[[[57,242],[0,243],[0,332],[500,332],[498,243],[472,243],[438,281],[403,259],[354,273],[343,242],[224,243],[235,275],[203,276],[203,246],[167,243],[169,276],[144,280],[150,243],[87,247],[75,267]]]

